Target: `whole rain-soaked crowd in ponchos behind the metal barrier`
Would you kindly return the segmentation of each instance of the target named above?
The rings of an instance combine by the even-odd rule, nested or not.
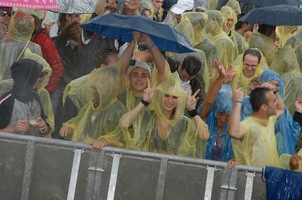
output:
[[[302,29],[241,22],[241,8],[99,0],[56,18],[1,7],[0,132],[302,170]],[[195,51],[81,28],[108,13],[166,23]]]

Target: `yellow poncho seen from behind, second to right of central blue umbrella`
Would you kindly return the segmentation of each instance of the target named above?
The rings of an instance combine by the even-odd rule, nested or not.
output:
[[[219,60],[224,66],[233,63],[237,57],[236,46],[232,39],[222,30],[223,16],[220,11],[210,10],[206,23],[207,37],[214,42],[217,47]]]

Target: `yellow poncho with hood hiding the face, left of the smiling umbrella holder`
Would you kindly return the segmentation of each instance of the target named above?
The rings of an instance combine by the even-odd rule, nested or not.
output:
[[[91,143],[104,139],[115,146],[123,146],[119,119],[126,110],[117,99],[119,81],[119,69],[116,66],[103,67],[92,72],[90,84],[95,88],[92,101],[75,118],[63,124],[72,128],[72,141]]]

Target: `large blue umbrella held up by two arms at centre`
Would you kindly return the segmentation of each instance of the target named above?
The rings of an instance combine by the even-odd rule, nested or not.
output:
[[[139,31],[149,35],[161,51],[178,53],[194,51],[194,48],[183,34],[167,24],[155,22],[144,16],[110,13],[95,17],[82,24],[81,27],[123,42],[132,40],[132,31]]]

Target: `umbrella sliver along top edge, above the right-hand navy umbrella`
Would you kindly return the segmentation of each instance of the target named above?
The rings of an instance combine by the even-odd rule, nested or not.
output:
[[[302,5],[302,1],[300,0],[238,0],[243,3],[250,3],[252,5],[267,7],[267,6],[275,6],[275,5],[292,5],[298,6]]]

